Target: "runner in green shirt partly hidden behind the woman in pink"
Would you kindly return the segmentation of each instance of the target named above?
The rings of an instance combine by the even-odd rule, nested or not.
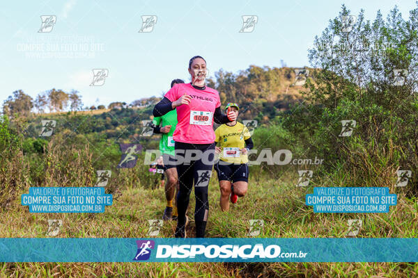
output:
[[[171,88],[174,84],[185,83],[181,79],[174,79],[171,81]],[[177,112],[176,109],[163,115],[162,117],[155,117],[153,120],[154,133],[162,133],[160,140],[160,152],[162,153],[164,172],[167,175],[167,182],[165,183],[164,190],[167,199],[167,207],[162,215],[162,220],[177,220],[177,206],[174,206],[173,210],[173,197],[174,193],[178,192],[178,175],[176,165],[174,163],[174,141],[173,133],[176,130],[177,125]],[[161,126],[161,127],[160,127]]]

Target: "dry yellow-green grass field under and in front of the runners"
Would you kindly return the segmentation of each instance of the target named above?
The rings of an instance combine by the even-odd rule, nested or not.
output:
[[[251,170],[250,170],[251,171]],[[62,238],[148,238],[148,220],[161,219],[164,189],[124,188],[105,213],[29,213],[16,200],[0,218],[1,237],[44,238],[48,219],[61,219]],[[417,200],[398,192],[390,213],[313,213],[304,205],[309,188],[291,177],[250,179],[247,196],[219,209],[216,174],[210,181],[208,237],[247,237],[249,220],[264,220],[261,238],[343,238],[349,219],[362,219],[357,237],[418,237]],[[194,237],[194,194],[187,227]],[[158,237],[172,237],[176,222],[164,222]],[[417,263],[1,263],[0,277],[417,277]]]

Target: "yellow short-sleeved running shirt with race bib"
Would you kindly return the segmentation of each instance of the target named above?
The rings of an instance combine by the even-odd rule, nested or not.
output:
[[[245,140],[251,137],[247,126],[237,122],[234,126],[222,124],[215,130],[215,142],[219,142],[219,159],[234,164],[247,163],[247,154],[241,154]]]

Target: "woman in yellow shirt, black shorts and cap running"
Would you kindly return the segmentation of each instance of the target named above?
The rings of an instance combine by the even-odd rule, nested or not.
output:
[[[238,104],[229,103],[225,110],[232,111],[238,117]],[[215,147],[219,154],[219,161],[215,170],[221,190],[220,206],[222,211],[229,210],[229,198],[235,204],[238,197],[243,197],[248,188],[248,157],[247,152],[252,149],[253,142],[247,126],[237,122],[222,124],[215,130]]]

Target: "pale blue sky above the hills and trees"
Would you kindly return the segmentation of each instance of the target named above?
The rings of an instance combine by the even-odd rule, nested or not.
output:
[[[373,20],[415,0],[347,1],[2,1],[0,105],[15,90],[36,98],[52,88],[78,90],[84,106],[161,96],[172,79],[189,81],[189,58],[205,58],[209,75],[249,65],[309,66],[314,38],[345,4]],[[41,30],[42,17],[54,16]],[[242,16],[256,16],[254,29]],[[156,19],[143,26],[144,16]],[[249,32],[251,31],[251,32]],[[106,70],[93,83],[93,70]],[[93,83],[93,85],[92,85]]]

